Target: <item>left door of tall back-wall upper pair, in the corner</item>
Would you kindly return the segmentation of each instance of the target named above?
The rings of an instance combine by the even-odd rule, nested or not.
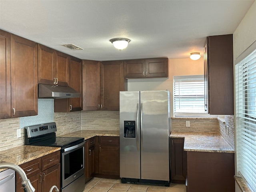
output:
[[[100,62],[83,60],[83,110],[100,109]]]

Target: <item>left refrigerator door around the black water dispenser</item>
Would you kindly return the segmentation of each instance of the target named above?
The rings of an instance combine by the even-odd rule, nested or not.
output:
[[[140,179],[140,92],[120,92],[120,177]],[[124,121],[135,121],[135,138],[125,138]]]

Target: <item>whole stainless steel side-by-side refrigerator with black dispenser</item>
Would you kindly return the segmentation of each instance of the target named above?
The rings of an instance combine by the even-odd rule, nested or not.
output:
[[[170,185],[170,92],[120,92],[122,183]]]

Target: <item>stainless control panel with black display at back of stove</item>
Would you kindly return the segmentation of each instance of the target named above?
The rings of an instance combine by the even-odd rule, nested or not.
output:
[[[26,129],[26,134],[27,134],[28,138],[57,131],[55,122],[26,126],[25,129]]]

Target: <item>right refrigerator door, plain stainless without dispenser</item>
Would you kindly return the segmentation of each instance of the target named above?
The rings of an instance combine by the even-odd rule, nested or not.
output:
[[[169,181],[169,91],[140,92],[141,179]]]

